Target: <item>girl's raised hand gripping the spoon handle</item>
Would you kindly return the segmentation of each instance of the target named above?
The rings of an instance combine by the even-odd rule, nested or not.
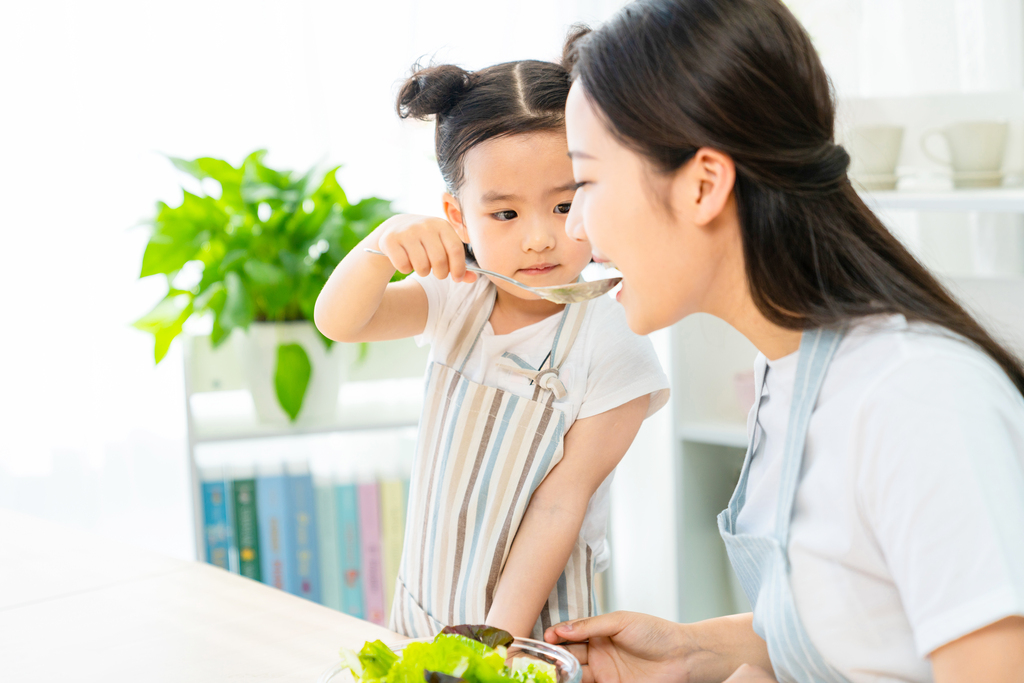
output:
[[[375,230],[375,237],[380,251],[391,259],[399,272],[415,270],[424,278],[432,272],[438,280],[451,274],[457,283],[476,281],[476,273],[466,270],[462,240],[442,218],[412,214],[392,216]]]

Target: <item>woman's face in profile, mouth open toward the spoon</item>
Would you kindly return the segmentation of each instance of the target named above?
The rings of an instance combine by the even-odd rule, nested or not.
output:
[[[719,266],[734,260],[737,243],[700,214],[708,189],[699,161],[657,172],[611,134],[579,82],[565,112],[580,183],[565,229],[590,241],[595,260],[622,271],[618,300],[630,328],[648,334],[693,312],[717,312]]]

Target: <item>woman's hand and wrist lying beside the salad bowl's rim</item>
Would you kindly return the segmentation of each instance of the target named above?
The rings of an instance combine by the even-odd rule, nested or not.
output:
[[[586,683],[703,683],[730,675],[740,676],[735,681],[773,680],[768,647],[754,633],[750,613],[675,624],[612,612],[558,624],[544,639],[569,643],[569,651],[584,665]],[[767,678],[742,678],[756,674]]]

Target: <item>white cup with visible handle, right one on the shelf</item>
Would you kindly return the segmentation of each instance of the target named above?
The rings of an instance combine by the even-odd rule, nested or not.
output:
[[[927,131],[921,138],[921,150],[932,161],[952,168],[955,187],[997,187],[1002,184],[1009,128],[1001,121],[962,121]],[[928,148],[929,141],[938,135],[946,138],[948,159]]]

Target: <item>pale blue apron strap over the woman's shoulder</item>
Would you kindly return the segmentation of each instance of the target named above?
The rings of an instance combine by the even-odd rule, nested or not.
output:
[[[793,521],[793,506],[797,499],[797,486],[800,483],[800,473],[804,463],[807,428],[828,372],[828,364],[836,355],[836,349],[839,348],[845,334],[845,329],[821,328],[805,331],[800,340],[800,357],[797,360],[797,376],[793,385],[793,403],[782,451],[782,470],[779,475],[778,502],[775,509],[775,538],[783,549],[787,548],[790,543],[790,525]]]

